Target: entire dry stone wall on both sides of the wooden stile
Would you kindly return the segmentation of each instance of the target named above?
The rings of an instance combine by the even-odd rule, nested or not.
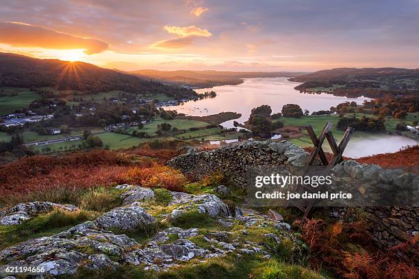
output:
[[[307,152],[287,141],[245,142],[215,150],[188,153],[168,161],[168,165],[184,173],[203,176],[215,170],[238,187],[246,187],[246,169],[254,166],[286,165],[301,167]],[[383,170],[379,165],[359,164],[349,160],[340,163],[332,172],[336,181],[355,187],[364,196],[374,196],[377,185],[383,189],[411,188],[413,200],[419,201],[419,176],[403,170]],[[368,188],[370,190],[368,191]],[[381,193],[385,190],[383,189]],[[378,193],[379,194],[379,193]],[[403,197],[401,197],[403,198]],[[379,245],[401,243],[419,230],[418,207],[366,207],[368,233]]]

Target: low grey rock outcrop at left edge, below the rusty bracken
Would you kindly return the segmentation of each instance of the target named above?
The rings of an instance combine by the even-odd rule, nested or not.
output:
[[[16,206],[0,211],[0,225],[10,226],[21,224],[25,220],[29,220],[40,213],[46,213],[53,209],[61,209],[64,211],[76,211],[77,207],[72,204],[56,204],[53,202],[25,202]]]

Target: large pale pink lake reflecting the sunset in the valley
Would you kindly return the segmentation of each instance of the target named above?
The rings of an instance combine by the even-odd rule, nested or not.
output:
[[[242,114],[236,121],[242,123],[249,119],[251,109],[259,105],[270,105],[272,112],[279,112],[283,105],[297,104],[310,112],[320,109],[329,109],[346,101],[362,103],[369,98],[346,98],[331,94],[303,94],[294,90],[301,83],[287,81],[286,77],[266,77],[245,79],[239,85],[223,85],[210,89],[200,89],[203,93],[214,90],[215,98],[205,98],[199,101],[186,102],[183,105],[166,107],[176,109],[177,112],[190,116],[208,116],[222,111],[234,111]],[[233,128],[233,120],[223,123],[226,128]]]

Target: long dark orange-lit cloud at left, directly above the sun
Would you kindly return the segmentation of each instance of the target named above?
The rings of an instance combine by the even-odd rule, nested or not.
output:
[[[101,40],[80,38],[26,23],[0,23],[0,43],[16,47],[43,49],[84,49],[91,55],[105,51],[109,44]]]

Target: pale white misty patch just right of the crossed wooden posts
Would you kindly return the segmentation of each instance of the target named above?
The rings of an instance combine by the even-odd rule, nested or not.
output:
[[[380,153],[392,153],[403,146],[414,146],[416,144],[418,144],[416,140],[401,135],[375,134],[352,137],[348,146],[346,146],[344,156],[359,158]]]

